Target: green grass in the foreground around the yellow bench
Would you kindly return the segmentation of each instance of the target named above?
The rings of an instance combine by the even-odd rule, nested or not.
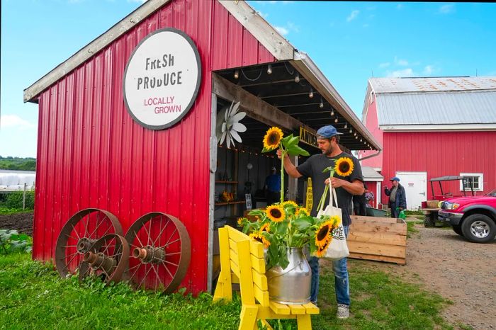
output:
[[[376,263],[349,260],[351,317],[336,318],[334,275],[321,262],[319,307],[313,329],[453,329],[440,316],[448,300],[407,283]],[[79,285],[28,254],[0,256],[0,329],[237,329],[239,298],[212,304],[206,293],[133,292],[120,283]],[[271,320],[296,329],[295,320]]]

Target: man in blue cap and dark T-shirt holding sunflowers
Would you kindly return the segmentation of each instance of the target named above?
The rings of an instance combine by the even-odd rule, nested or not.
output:
[[[312,155],[303,164],[296,167],[289,157],[283,159],[284,169],[289,176],[293,178],[312,178],[312,195],[314,203],[312,205],[312,216],[317,216],[317,203],[322,193],[324,193],[325,184],[331,184],[337,191],[338,207],[342,210],[344,233],[348,235],[349,224],[351,219],[349,217],[349,205],[351,204],[352,195],[363,194],[363,176],[361,174],[361,166],[355,157],[346,154],[339,147],[339,135],[342,133],[337,132],[334,126],[324,126],[317,130],[317,145],[322,151],[322,154]],[[277,152],[278,157],[281,159],[281,151]],[[346,177],[338,176],[334,173],[334,177],[329,179],[329,172],[322,173],[324,169],[329,166],[334,166],[334,162],[341,157],[348,157],[353,161],[354,170]],[[327,201],[326,201],[327,204]],[[312,268],[312,288],[310,292],[310,300],[317,302],[317,295],[319,292],[319,258],[311,256],[310,268]],[[334,270],[334,287],[336,289],[337,300],[337,317],[339,319],[346,319],[349,317],[349,278],[348,270],[346,268],[346,258],[332,262]]]

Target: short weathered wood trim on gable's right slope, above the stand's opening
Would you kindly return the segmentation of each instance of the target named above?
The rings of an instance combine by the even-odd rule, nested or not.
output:
[[[278,60],[293,59],[294,47],[277,32],[257,11],[244,1],[219,0],[249,33]]]

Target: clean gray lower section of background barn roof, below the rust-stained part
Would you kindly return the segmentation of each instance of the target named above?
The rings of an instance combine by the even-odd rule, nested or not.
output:
[[[379,125],[496,123],[496,89],[376,94]]]

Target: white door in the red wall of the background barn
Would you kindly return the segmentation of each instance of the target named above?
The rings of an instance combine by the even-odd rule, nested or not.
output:
[[[418,210],[426,200],[427,172],[396,172],[407,195],[407,209]]]

